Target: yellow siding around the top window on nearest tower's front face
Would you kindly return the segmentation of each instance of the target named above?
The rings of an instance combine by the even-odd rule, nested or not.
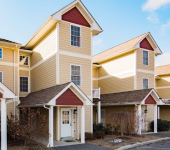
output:
[[[70,23],[60,22],[59,25],[59,49],[91,56],[91,30],[81,26],[81,46],[71,46]]]

